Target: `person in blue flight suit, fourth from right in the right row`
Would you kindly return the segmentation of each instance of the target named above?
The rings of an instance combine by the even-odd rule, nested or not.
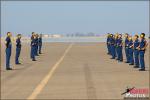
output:
[[[125,33],[125,54],[126,54],[126,62],[129,63],[129,34]]]

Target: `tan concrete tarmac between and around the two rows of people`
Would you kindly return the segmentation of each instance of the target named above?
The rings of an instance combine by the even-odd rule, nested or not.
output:
[[[1,99],[123,99],[126,87],[149,88],[149,50],[143,72],[110,59],[106,51],[105,43],[44,43],[33,62],[30,44],[24,43],[22,65],[14,63],[14,46],[14,70],[6,71],[2,45]]]

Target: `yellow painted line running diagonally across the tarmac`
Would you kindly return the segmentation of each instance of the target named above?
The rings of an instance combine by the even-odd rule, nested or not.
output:
[[[72,46],[73,46],[73,43],[68,46],[68,48],[65,50],[61,58],[56,62],[56,64],[52,67],[49,73],[44,77],[44,79],[40,82],[40,84],[38,84],[38,86],[34,89],[32,94],[27,99],[36,99],[38,94],[42,91],[42,89],[48,83],[48,80],[52,77],[53,73],[55,72],[59,64],[63,61],[63,59],[65,58],[66,54],[69,52]]]

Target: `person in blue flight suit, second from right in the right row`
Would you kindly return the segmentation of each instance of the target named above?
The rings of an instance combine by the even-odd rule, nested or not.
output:
[[[134,61],[135,61],[135,66],[134,68],[139,68],[139,50],[138,50],[138,47],[139,47],[139,36],[136,34],[134,35],[134,45],[133,45],[133,48],[134,48]]]

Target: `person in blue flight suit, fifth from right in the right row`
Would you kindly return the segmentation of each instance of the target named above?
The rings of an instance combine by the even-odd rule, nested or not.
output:
[[[117,40],[117,54],[118,54],[118,61],[123,61],[123,55],[122,55],[122,34],[118,35],[118,40]]]

